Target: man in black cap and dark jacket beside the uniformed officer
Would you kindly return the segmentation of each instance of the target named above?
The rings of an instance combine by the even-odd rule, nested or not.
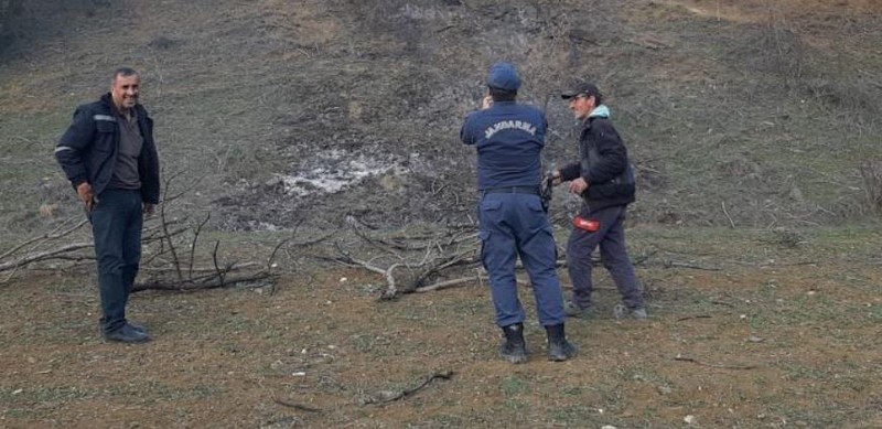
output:
[[[594,313],[591,293],[591,254],[600,246],[603,266],[610,270],[622,303],[615,305],[617,319],[646,319],[643,291],[625,247],[625,210],[634,202],[634,171],[610,121],[610,109],[594,84],[579,83],[562,94],[570,109],[582,121],[579,137],[579,162],[553,172],[556,182],[570,183],[570,192],[581,195],[584,204],[573,222],[567,244],[567,265],[572,281],[572,300],[566,304],[569,317]]]

